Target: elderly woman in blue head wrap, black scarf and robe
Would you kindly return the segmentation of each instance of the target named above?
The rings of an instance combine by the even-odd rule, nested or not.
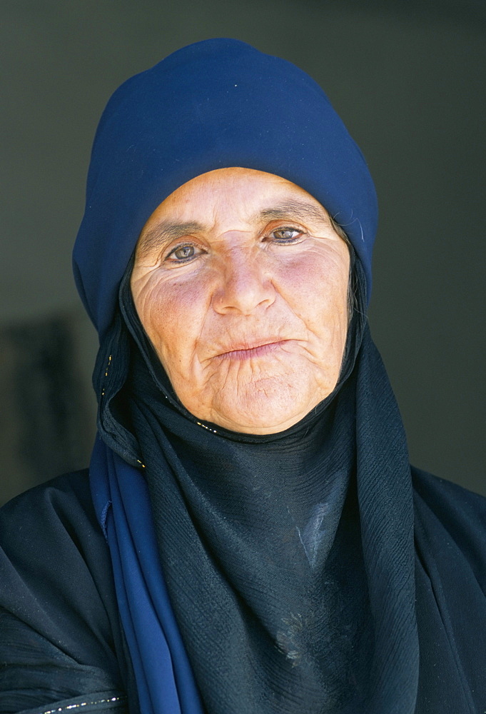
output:
[[[4,509],[1,713],[486,707],[486,503],[410,468],[376,218],[286,61],[204,41],[116,91],[74,251],[98,439]]]

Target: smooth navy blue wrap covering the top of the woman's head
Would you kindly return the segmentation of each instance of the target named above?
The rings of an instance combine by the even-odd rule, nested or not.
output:
[[[100,336],[148,216],[186,181],[230,166],[283,176],[317,198],[358,253],[369,301],[377,203],[360,149],[301,69],[213,39],[128,79],[101,117],[74,248],[76,285]]]

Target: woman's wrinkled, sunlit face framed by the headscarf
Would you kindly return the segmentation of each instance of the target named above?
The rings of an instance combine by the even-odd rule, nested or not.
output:
[[[303,188],[218,169],[143,228],[131,290],[183,405],[232,431],[283,431],[338,381],[348,247]]]

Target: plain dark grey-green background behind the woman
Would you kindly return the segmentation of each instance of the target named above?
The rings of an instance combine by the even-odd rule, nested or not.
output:
[[[71,278],[108,96],[233,36],[325,89],[380,200],[370,323],[417,466],[486,494],[485,0],[0,0],[0,501],[86,466],[96,338]],[[258,107],[255,107],[258,111]]]

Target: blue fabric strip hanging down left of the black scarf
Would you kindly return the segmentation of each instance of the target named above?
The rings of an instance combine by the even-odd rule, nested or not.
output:
[[[141,711],[203,714],[168,598],[143,476],[97,438],[90,481],[96,515],[111,552]]]

